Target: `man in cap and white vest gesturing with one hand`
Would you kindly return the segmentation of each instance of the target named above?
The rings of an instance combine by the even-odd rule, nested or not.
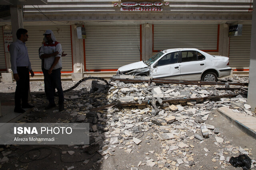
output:
[[[49,105],[45,107],[45,109],[50,109],[55,107],[56,104],[54,102],[54,93],[55,87],[58,90],[59,97],[59,111],[64,110],[64,94],[61,85],[61,72],[62,63],[61,63],[61,53],[62,47],[61,44],[56,41],[54,33],[52,30],[47,29],[43,34],[46,43],[42,44],[42,47],[39,52],[40,59],[44,59],[44,69],[46,69],[46,74],[44,75],[46,96],[48,96]],[[48,73],[48,74],[47,74]]]

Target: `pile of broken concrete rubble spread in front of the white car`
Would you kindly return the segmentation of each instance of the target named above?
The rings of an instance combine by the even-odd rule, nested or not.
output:
[[[220,162],[222,168],[226,168],[232,155],[248,154],[250,149],[243,149],[229,145],[222,136],[221,127],[208,125],[205,121],[218,107],[229,107],[235,112],[255,116],[247,106],[246,98],[238,95],[235,98],[221,98],[219,101],[205,101],[203,103],[187,102],[183,104],[168,104],[164,100],[198,98],[234,94],[230,90],[216,90],[216,86],[194,86],[179,84],[150,84],[124,83],[112,81],[112,86],[107,94],[102,89],[95,94],[90,94],[89,99],[84,100],[88,94],[82,91],[80,94],[66,98],[70,115],[76,117],[78,122],[90,122],[90,144],[84,145],[85,150],[96,145],[97,152],[102,156],[98,164],[115,155],[116,150],[124,150],[131,154],[139,152],[134,149],[142,143],[150,145],[152,141],[159,141],[161,152],[148,150],[144,160],[138,161],[137,167],[142,166],[173,168],[179,166],[193,167],[198,163],[196,154],[193,153],[196,141],[201,144],[213,137],[214,144],[219,148],[214,153],[212,162]],[[92,92],[92,91],[91,91]],[[106,91],[105,91],[106,92]],[[242,91],[236,91],[241,93]],[[142,102],[146,105],[140,105]],[[99,111],[89,109],[119,103],[138,103],[139,106],[114,106]],[[76,111],[74,111],[76,109]],[[215,116],[215,115],[214,115]],[[212,118],[213,119],[213,118]],[[209,149],[209,148],[208,148]],[[207,156],[209,152],[204,148]],[[92,153],[92,152],[91,152]],[[150,155],[156,155],[154,158]],[[88,163],[89,160],[86,161]],[[255,161],[253,161],[255,165]],[[253,166],[253,165],[252,165]],[[133,167],[133,170],[138,169]],[[146,167],[144,167],[146,168]],[[213,167],[213,168],[218,168]]]

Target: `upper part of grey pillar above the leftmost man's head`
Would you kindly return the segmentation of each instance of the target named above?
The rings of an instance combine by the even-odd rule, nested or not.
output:
[[[19,28],[23,28],[22,6],[10,6],[11,23],[12,23],[12,39],[17,40],[16,32]]]

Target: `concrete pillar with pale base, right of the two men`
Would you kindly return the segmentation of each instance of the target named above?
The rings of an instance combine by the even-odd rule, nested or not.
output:
[[[71,25],[71,28],[74,73],[82,73],[84,72],[84,39],[77,38],[76,25]]]

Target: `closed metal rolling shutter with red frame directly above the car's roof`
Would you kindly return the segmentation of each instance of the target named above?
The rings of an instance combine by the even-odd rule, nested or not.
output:
[[[218,25],[154,25],[154,50],[217,50]]]

